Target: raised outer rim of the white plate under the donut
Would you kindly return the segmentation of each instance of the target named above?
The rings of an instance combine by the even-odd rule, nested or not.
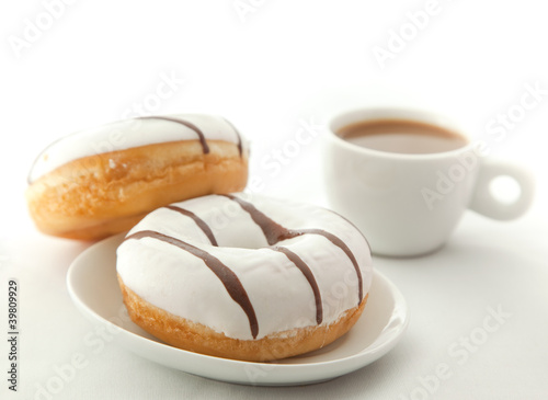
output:
[[[67,272],[67,289],[69,293],[69,296],[75,304],[75,306],[78,308],[78,310],[92,323],[94,324],[102,324],[102,325],[107,325],[109,329],[112,331],[116,331],[116,334],[114,334],[114,340],[122,345],[124,348],[127,351],[139,355],[140,357],[144,357],[150,362],[161,364],[164,366],[169,366],[171,368],[184,372],[186,374],[195,375],[195,376],[201,376],[204,378],[208,379],[214,379],[218,381],[227,381],[227,382],[232,382],[232,384],[240,384],[240,385],[251,385],[251,386],[296,386],[296,385],[309,385],[309,384],[315,384],[315,382],[320,382],[320,381],[326,381],[326,380],[331,380],[334,378],[338,378],[340,376],[346,375],[349,373],[355,372],[357,369],[361,369],[378,358],[383,357],[385,354],[387,354],[390,350],[392,350],[398,342],[401,340],[403,333],[406,332],[408,325],[409,325],[409,307],[408,304],[401,294],[401,292],[398,289],[398,287],[390,281],[388,279],[383,273],[377,271],[376,268],[373,270],[374,276],[373,276],[373,282],[379,279],[383,282],[383,284],[388,288],[388,293],[393,299],[393,308],[390,311],[390,318],[388,322],[385,324],[380,333],[375,338],[375,340],[365,348],[356,352],[355,354],[343,356],[341,358],[335,358],[335,359],[329,359],[329,361],[323,361],[323,362],[315,362],[315,363],[294,363],[294,364],[277,364],[275,362],[271,363],[256,363],[256,362],[246,362],[246,361],[239,361],[239,359],[231,359],[231,358],[222,358],[222,357],[215,357],[215,356],[209,356],[206,354],[201,354],[201,353],[195,353],[191,351],[186,351],[183,348],[178,348],[173,347],[169,344],[164,344],[161,342],[157,342],[153,340],[150,340],[149,338],[142,336],[138,333],[132,332],[124,327],[117,325],[116,323],[110,321],[109,319],[105,319],[101,315],[99,315],[91,306],[89,306],[85,301],[83,301],[80,298],[80,295],[78,294],[78,288],[76,287],[76,282],[75,282],[75,276],[77,273],[80,271],[79,265],[82,263],[82,260],[87,259],[90,256],[90,253],[94,253],[96,251],[101,251],[102,248],[105,248],[107,245],[113,245],[116,241],[121,241],[123,237],[125,237],[124,233],[118,233],[115,236],[112,236],[110,238],[103,239],[99,242],[93,243],[90,245],[88,249],[85,249],[82,253],[80,253],[70,264],[68,272]],[[81,267],[80,267],[81,268]],[[390,330],[390,332],[387,332],[387,327],[390,324],[390,321],[392,321],[395,318],[393,316],[397,315],[398,318],[397,320],[400,321],[399,324],[397,324],[395,328]],[[388,338],[387,338],[388,336]],[[125,339],[122,340],[122,339]],[[377,343],[379,342],[380,343]],[[126,342],[129,342],[126,343]],[[155,352],[158,353],[180,353],[183,354],[185,357],[190,357],[191,361],[199,361],[201,363],[215,363],[217,364],[218,367],[238,367],[240,369],[246,369],[247,367],[266,367],[269,370],[269,374],[266,374],[265,379],[256,379],[256,380],[250,380],[249,375],[248,379],[233,379],[233,378],[222,378],[218,377],[216,374],[199,374],[195,372],[190,372],[187,369],[182,369],[180,366],[173,365],[174,363],[161,363],[158,359],[153,359],[150,356],[147,356],[144,353],[147,353],[147,351],[140,351],[139,348],[133,347],[136,343],[144,344],[146,346],[152,346],[155,348]],[[376,345],[376,346],[375,346]],[[373,350],[367,351],[368,348],[374,347]],[[365,359],[364,359],[365,358]],[[336,370],[331,370],[329,367],[338,366]],[[343,368],[346,366],[346,368]],[[327,370],[327,373],[323,374],[316,374],[315,373],[320,373],[321,369]],[[289,377],[284,377],[284,374],[281,372],[287,370],[289,374]],[[305,376],[298,377],[298,374],[295,374],[297,370],[304,372],[306,370],[308,374],[306,375],[311,375],[309,378],[305,378]],[[233,370],[232,370],[233,373]],[[270,378],[267,378],[270,376]],[[283,379],[282,379],[283,378]]]

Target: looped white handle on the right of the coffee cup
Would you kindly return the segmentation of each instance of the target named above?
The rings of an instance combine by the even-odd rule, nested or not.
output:
[[[513,203],[503,203],[493,196],[491,183],[498,176],[510,176],[520,185],[521,194]],[[525,214],[534,195],[535,179],[529,171],[507,161],[488,159],[480,167],[469,208],[489,218],[511,220]]]

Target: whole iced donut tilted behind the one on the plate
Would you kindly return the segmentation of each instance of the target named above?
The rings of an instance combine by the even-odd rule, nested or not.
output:
[[[100,239],[167,204],[243,190],[248,152],[248,142],[219,116],[107,124],[69,135],[38,156],[28,175],[28,210],[45,233]]]

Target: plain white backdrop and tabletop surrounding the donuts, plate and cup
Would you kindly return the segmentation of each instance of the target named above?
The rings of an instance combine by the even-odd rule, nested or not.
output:
[[[421,20],[424,10],[434,12]],[[251,176],[259,191],[323,204],[321,137],[287,153],[302,121],[321,124],[333,110],[396,99],[443,111],[467,126],[472,139],[486,139],[487,125],[517,110],[526,87],[537,85],[545,92],[535,106],[491,146],[493,156],[535,173],[532,210],[511,222],[468,213],[436,254],[376,258],[412,310],[404,339],[383,359],[328,384],[248,388],[170,370],[109,344],[89,354],[89,365],[55,398],[545,399],[546,15],[538,0],[4,2],[0,327],[7,331],[5,288],[8,277],[15,277],[22,347],[13,398],[32,399],[55,365],[84,348],[82,338],[92,330],[65,287],[70,262],[88,243],[42,236],[26,214],[26,174],[53,140],[139,113],[219,113],[252,141]],[[412,20],[421,26],[413,28]],[[396,34],[407,39],[379,62],[374,49],[388,50]],[[158,101],[165,76],[178,83]],[[269,168],[284,149],[279,168]],[[511,317],[466,361],[452,356],[454,343],[481,328],[489,307]],[[3,333],[0,343],[3,372]],[[416,389],[441,364],[449,365],[450,376],[426,395]]]

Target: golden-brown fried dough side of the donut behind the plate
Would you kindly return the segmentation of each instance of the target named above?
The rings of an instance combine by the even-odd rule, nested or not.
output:
[[[235,144],[164,142],[90,156],[33,182],[28,212],[44,233],[96,240],[130,229],[149,212],[174,202],[238,192],[248,180],[248,153]]]

